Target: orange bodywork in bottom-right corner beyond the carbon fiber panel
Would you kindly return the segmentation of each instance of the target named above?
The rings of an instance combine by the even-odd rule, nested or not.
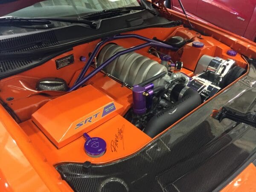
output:
[[[250,163],[235,179],[233,179],[221,192],[255,192],[256,167]]]

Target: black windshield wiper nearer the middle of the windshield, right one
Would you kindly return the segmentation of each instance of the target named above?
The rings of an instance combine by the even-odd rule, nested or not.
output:
[[[132,6],[132,7],[120,7],[116,9],[107,9],[99,12],[93,12],[79,18],[88,19],[88,20],[102,19],[102,18],[114,17],[122,14],[127,14],[127,13],[130,13],[131,10],[148,10],[149,12],[152,12],[153,14],[155,14],[155,12],[149,9],[146,9],[144,7]]]

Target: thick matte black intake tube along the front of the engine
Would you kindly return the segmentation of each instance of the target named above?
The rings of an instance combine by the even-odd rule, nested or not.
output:
[[[201,104],[201,96],[192,88],[190,88],[189,93],[188,96],[183,97],[174,105],[153,116],[148,121],[144,133],[149,137],[155,137],[181,117],[198,107]]]

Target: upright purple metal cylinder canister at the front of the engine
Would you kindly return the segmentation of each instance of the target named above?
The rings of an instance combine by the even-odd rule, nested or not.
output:
[[[133,96],[133,111],[136,114],[143,114],[146,112],[146,97],[143,95],[145,87],[134,87],[132,90]]]

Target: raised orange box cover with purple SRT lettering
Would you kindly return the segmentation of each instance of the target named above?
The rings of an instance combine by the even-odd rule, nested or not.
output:
[[[122,105],[91,85],[47,102],[32,121],[58,148],[116,116]]]

